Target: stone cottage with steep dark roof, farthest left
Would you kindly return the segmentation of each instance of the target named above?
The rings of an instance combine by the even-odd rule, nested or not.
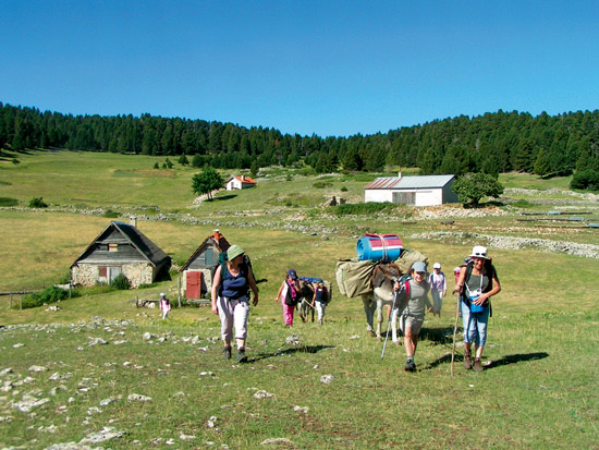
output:
[[[71,265],[75,285],[110,283],[124,275],[132,288],[151,284],[168,272],[171,257],[137,227],[112,221]]]

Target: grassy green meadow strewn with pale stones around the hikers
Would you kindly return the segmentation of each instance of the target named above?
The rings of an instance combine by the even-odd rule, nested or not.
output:
[[[296,320],[291,330],[274,303],[286,269],[332,281],[337,259],[354,256],[365,231],[399,233],[448,275],[478,243],[474,232],[597,245],[592,231],[517,223],[522,210],[509,207],[440,226],[409,208],[339,218],[322,206],[332,195],[358,202],[370,175],[273,169],[255,190],[193,207],[196,169],[151,169],[163,158],[19,158],[17,166],[0,161],[0,197],[24,207],[42,196],[51,210],[0,209],[0,291],[64,278],[111,220],[70,208],[110,208],[123,219],[137,215],[142,231],[179,263],[219,228],[252,256],[260,303],[250,314],[249,363],[235,365],[221,358],[209,308],[174,307],[162,321],[156,309],[135,307],[135,297],[161,291],[176,299],[175,272],[140,290],[89,290],[58,312],[10,309],[0,296],[0,448],[599,448],[596,258],[490,246],[503,290],[481,374],[462,367],[459,346],[450,375],[455,297],[445,297],[440,318],[427,316],[415,374],[403,372],[403,346],[389,345],[380,358],[359,300],[335,292],[323,326]],[[519,174],[503,181],[567,186],[537,186]],[[542,208],[554,209],[530,210]],[[462,234],[416,238],[439,230]]]

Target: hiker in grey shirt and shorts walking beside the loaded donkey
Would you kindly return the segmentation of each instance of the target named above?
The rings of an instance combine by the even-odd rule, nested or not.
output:
[[[418,333],[425,321],[425,307],[430,304],[428,291],[430,289],[426,280],[426,265],[423,262],[416,262],[412,265],[411,278],[405,281],[409,283],[409,292],[407,305],[403,309],[401,321],[404,330],[404,346],[406,354],[405,370],[415,372],[416,363],[414,363],[414,354],[418,344]],[[399,291],[402,288],[398,280],[394,290]]]

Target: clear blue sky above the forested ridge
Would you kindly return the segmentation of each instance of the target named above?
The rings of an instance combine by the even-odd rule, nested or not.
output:
[[[349,136],[599,108],[597,1],[0,0],[0,101]]]

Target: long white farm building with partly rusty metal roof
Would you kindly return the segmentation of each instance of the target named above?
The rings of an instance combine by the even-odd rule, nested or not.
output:
[[[364,202],[435,206],[457,202],[451,186],[455,175],[383,177],[364,188]]]

